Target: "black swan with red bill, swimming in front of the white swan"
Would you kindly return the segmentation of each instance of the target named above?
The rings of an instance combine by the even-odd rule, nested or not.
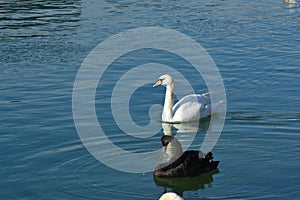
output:
[[[180,148],[180,143],[173,136],[163,136],[161,138],[163,147],[169,143],[175,144],[175,148]],[[178,146],[180,145],[180,147]],[[182,152],[182,151],[181,151]],[[212,171],[218,167],[219,161],[213,161],[212,153],[206,155],[201,151],[185,151],[179,157],[175,157],[169,162],[158,165],[153,175],[156,177],[188,177],[197,176],[202,173]]]

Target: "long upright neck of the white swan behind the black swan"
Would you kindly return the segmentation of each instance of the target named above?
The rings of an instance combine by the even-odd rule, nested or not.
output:
[[[164,110],[162,113],[162,121],[173,122],[172,108],[174,103],[174,84],[166,86],[166,95],[164,102]]]

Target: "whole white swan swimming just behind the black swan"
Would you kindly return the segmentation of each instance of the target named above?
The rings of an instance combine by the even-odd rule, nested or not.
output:
[[[166,95],[162,113],[163,122],[191,122],[214,114],[223,101],[211,103],[210,95],[191,94],[180,99],[174,106],[174,81],[172,76],[164,74],[153,85],[166,86]]]

